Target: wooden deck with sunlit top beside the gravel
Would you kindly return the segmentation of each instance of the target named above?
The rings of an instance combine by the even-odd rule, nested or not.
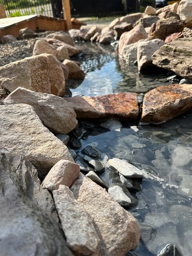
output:
[[[65,19],[52,18],[42,15],[27,15],[12,18],[0,19],[0,37],[4,35],[13,35],[18,37],[19,30],[23,28],[35,30],[53,30],[66,31],[67,24]]]

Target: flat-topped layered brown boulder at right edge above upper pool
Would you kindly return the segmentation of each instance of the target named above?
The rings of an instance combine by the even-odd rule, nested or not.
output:
[[[177,75],[192,79],[192,38],[180,38],[165,44],[152,55],[154,65],[172,70]]]

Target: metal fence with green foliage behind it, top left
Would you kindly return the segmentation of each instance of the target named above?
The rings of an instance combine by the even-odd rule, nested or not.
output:
[[[7,17],[41,14],[53,17],[54,0],[0,0]]]

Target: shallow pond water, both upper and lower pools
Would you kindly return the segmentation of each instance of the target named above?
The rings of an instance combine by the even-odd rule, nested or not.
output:
[[[170,72],[140,75],[136,66],[126,69],[111,46],[77,43],[77,56],[86,78],[69,83],[73,96],[98,96],[117,92],[140,95],[157,86],[168,85]],[[192,113],[159,125],[83,121],[82,147],[96,145],[108,158],[125,159],[144,169],[137,206],[130,209],[139,221],[139,246],[127,255],[157,255],[166,244],[176,245],[181,255],[191,255],[192,246]],[[101,177],[108,182],[108,175]],[[170,254],[166,254],[170,255]],[[179,254],[171,254],[179,255]]]

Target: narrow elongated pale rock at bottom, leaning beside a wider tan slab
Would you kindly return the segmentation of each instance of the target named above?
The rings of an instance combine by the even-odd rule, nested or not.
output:
[[[53,191],[53,198],[68,246],[83,255],[95,252],[99,239],[93,220],[69,187],[60,185]]]

